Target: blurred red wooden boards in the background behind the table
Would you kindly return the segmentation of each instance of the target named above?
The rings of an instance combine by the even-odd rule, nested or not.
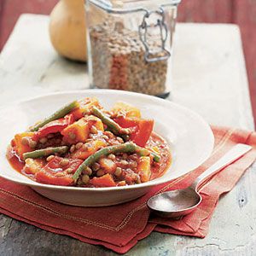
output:
[[[0,0],[0,50],[21,13],[49,14],[57,2]],[[178,20],[236,23],[240,26],[256,120],[256,0],[183,0],[178,9]]]

